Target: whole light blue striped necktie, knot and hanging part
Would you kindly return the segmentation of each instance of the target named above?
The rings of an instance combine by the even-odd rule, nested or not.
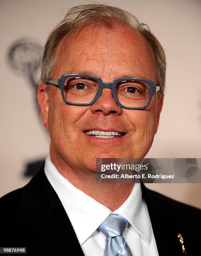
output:
[[[99,226],[99,230],[106,236],[104,256],[132,256],[123,233],[128,221],[121,215],[111,213]]]

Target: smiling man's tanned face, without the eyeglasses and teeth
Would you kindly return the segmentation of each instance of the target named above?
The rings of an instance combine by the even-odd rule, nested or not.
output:
[[[120,77],[141,77],[157,83],[153,52],[134,29],[86,26],[76,37],[66,36],[57,52],[53,79],[62,74],[91,74],[112,82]],[[51,136],[51,159],[77,170],[96,169],[96,158],[142,158],[150,149],[158,127],[162,99],[153,95],[145,110],[120,108],[111,89],[91,106],[72,106],[51,85],[48,94],[39,85],[43,125]],[[116,131],[123,136],[97,138],[86,131]]]

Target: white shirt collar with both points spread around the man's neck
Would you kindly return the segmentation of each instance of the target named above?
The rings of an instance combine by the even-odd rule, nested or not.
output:
[[[44,171],[71,221],[79,243],[82,245],[112,211],[64,178],[53,165],[50,155],[46,158]],[[142,201],[140,184],[135,184],[127,200],[114,213],[126,218],[130,225],[150,244],[150,219],[145,202]]]

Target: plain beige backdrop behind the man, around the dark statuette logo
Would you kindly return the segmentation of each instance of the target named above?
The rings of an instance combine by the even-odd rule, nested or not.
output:
[[[106,1],[101,1],[105,3]],[[31,37],[42,45],[69,7],[91,1],[0,0],[0,196],[25,185],[25,164],[48,154],[34,90],[13,72],[6,54],[13,41]],[[201,1],[109,0],[147,23],[167,55],[165,102],[148,157],[201,158]],[[34,39],[34,40],[35,40]],[[22,56],[23,59],[23,56]],[[176,200],[201,208],[201,184],[149,184]]]

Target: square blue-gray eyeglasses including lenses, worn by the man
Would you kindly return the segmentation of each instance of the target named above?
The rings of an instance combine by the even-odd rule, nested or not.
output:
[[[48,79],[47,84],[60,87],[61,95],[69,105],[92,105],[102,93],[102,89],[112,89],[112,96],[121,108],[145,109],[160,86],[148,79],[137,77],[117,78],[105,83],[101,78],[88,74],[64,74],[60,79]]]

